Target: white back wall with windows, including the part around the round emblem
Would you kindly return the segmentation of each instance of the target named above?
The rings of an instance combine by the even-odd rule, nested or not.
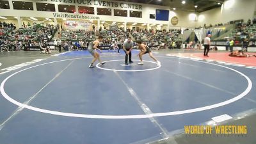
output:
[[[10,3],[12,3],[11,0],[9,0],[9,1],[10,1]],[[22,0],[16,0],[16,1],[22,1]],[[53,13],[58,13],[58,5],[57,4],[69,4],[69,3],[63,3],[63,2],[52,2],[51,0],[46,0],[46,1],[25,0],[25,1],[31,1],[31,2],[34,3],[34,10],[33,11],[12,10],[12,6],[10,6],[11,7],[10,10],[0,9],[1,16],[54,18]],[[106,1],[108,1],[108,0],[106,0]],[[38,11],[36,11],[36,7],[35,7],[36,2],[38,2],[38,3],[54,3],[55,6],[56,6],[56,12],[38,12]],[[108,7],[108,6],[94,6],[93,4],[92,5],[85,5],[85,4],[70,3],[70,5],[76,5],[76,8],[79,5],[81,5],[81,6],[94,6],[95,7],[95,15],[85,15],[84,14],[83,16],[99,17],[99,20],[116,21],[116,22],[138,22],[138,23],[163,24],[163,25],[168,25],[169,24],[168,21],[161,21],[161,20],[155,20],[155,19],[150,19],[149,18],[150,14],[156,14],[156,9],[170,10],[170,7],[168,7],[168,6],[157,6],[157,5],[152,5],[152,4],[130,3],[130,2],[124,2],[124,1],[113,1],[113,2],[116,2],[116,3],[119,3],[119,4],[120,3],[139,4],[139,5],[142,5],[142,10],[121,8],[120,6],[118,8]],[[93,1],[92,1],[92,3],[93,3]],[[112,9],[112,16],[96,15],[97,8],[111,8]],[[142,12],[142,18],[114,17],[113,16],[113,9],[127,10],[128,16],[129,16],[129,11],[130,10],[141,11]],[[177,12],[174,12],[174,13],[176,13],[177,17],[179,17],[179,24],[177,25],[177,27],[195,27],[195,22],[191,22],[191,21],[188,20],[188,14],[189,14],[188,12],[177,11]],[[77,14],[74,14],[74,13],[68,13],[68,14],[69,15],[77,15]],[[81,15],[81,14],[79,14],[79,15]],[[170,12],[170,15],[171,15],[171,12]],[[57,19],[61,19],[61,18],[57,18]],[[170,17],[170,19],[172,19],[172,17]],[[172,25],[170,25],[170,26],[172,26]]]

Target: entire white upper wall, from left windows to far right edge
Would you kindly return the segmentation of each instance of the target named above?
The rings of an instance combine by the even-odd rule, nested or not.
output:
[[[11,0],[10,0],[11,1]],[[16,0],[16,1],[22,1],[22,0]],[[26,0],[26,1],[33,1],[33,0]],[[60,2],[51,2],[50,0],[47,1],[33,1],[34,3],[40,2],[40,3],[54,3],[59,4]],[[118,3],[130,3],[130,2],[121,2],[121,1],[114,1]],[[63,4],[61,2],[61,4]],[[65,3],[67,4],[67,3]],[[138,4],[138,3],[132,3],[132,4]],[[76,7],[79,5],[84,4],[76,4]],[[230,20],[238,20],[238,19],[252,19],[253,13],[256,11],[256,0],[227,0],[225,3],[221,6],[221,8],[214,8],[212,10],[202,12],[202,13],[196,13],[196,21],[189,20],[189,14],[191,12],[185,12],[185,11],[179,11],[179,10],[170,10],[170,7],[168,6],[156,6],[156,5],[150,5],[150,4],[141,4],[142,10],[138,10],[142,12],[142,18],[132,18],[132,17],[114,17],[114,16],[106,16],[106,15],[84,15],[84,16],[90,16],[90,17],[99,17],[99,20],[106,20],[106,21],[116,21],[116,22],[138,22],[138,23],[149,23],[149,24],[163,24],[168,25],[170,28],[195,28],[198,26],[204,26],[204,24],[218,24],[218,23],[227,23]],[[88,5],[93,6],[93,5]],[[95,10],[97,7],[102,8],[111,8],[111,9],[119,9],[119,10],[128,10],[127,8],[113,8],[113,7],[107,7],[107,6],[95,6]],[[12,6],[11,6],[12,8]],[[36,8],[34,8],[36,9]],[[156,14],[156,9],[161,10],[170,10],[170,17],[169,22],[168,21],[161,21],[161,20],[155,20],[155,19],[149,19],[150,14]],[[132,10],[132,9],[129,9]],[[128,13],[129,13],[128,10]],[[58,10],[56,10],[58,11]],[[0,15],[1,16],[20,16],[20,17],[47,17],[47,18],[54,18],[53,13],[58,12],[38,12],[36,10],[34,11],[27,11],[27,10],[3,10],[0,9]],[[95,11],[96,13],[96,11]],[[71,15],[76,15],[74,13],[68,13]],[[129,15],[129,14],[128,14]],[[176,26],[173,26],[170,22],[173,16],[177,16],[179,19],[179,23]],[[204,19],[203,19],[204,18]],[[58,18],[61,19],[61,18]],[[0,19],[1,20],[1,19]],[[78,20],[78,19],[77,19]],[[85,19],[83,19],[85,20]],[[3,20],[1,20],[3,21]],[[17,22],[15,22],[15,25],[17,25]]]

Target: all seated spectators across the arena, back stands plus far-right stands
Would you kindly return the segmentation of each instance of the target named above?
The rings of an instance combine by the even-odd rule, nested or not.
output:
[[[0,24],[2,26],[0,29],[1,51],[21,51],[28,47],[40,47],[40,45],[42,47],[54,45],[55,49],[61,47],[65,51],[84,50],[97,35],[104,36],[104,41],[100,44],[100,47],[116,47],[117,44],[124,43],[129,34],[134,37],[135,42],[141,40],[151,49],[157,50],[182,48],[182,45],[183,47],[185,45],[184,48],[187,49],[200,49],[201,45],[199,42],[182,43],[180,29],[170,29],[170,31],[154,29],[134,31],[130,29],[130,31],[125,32],[120,29],[109,30],[104,28],[101,31],[95,29],[94,31],[81,29],[70,31],[62,29],[60,25],[35,24],[33,26],[26,25],[26,28],[15,30],[15,25],[12,23],[0,22]],[[223,24],[216,24],[216,26],[223,26]],[[207,26],[204,27],[207,28]],[[209,28],[211,27],[210,25]],[[56,37],[56,40],[52,40],[58,30],[61,30],[58,37]],[[249,19],[247,22],[236,22],[236,33],[233,38],[236,39],[237,37],[241,38],[244,45],[252,44],[250,40],[256,39],[256,19]]]

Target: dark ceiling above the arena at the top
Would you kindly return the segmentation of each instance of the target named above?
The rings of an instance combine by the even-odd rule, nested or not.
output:
[[[218,8],[224,2],[224,0],[185,0],[186,4],[182,4],[183,0],[118,0],[133,3],[155,4],[161,6],[170,6],[171,9],[186,10],[191,12],[204,12],[211,10],[212,8]],[[220,3],[220,4],[218,4]],[[195,8],[195,5],[198,7]]]

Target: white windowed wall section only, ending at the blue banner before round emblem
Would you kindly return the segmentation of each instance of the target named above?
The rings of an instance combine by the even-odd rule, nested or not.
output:
[[[22,0],[16,0],[16,1],[22,1]],[[36,11],[36,8],[34,7],[33,11],[28,11],[28,10],[4,10],[0,9],[1,16],[20,16],[20,17],[47,17],[47,18],[54,18],[53,13],[58,13],[58,6],[57,4],[69,4],[69,3],[63,3],[63,2],[52,2],[50,0],[47,1],[33,1],[33,0],[25,0],[25,1],[31,1],[33,3],[54,3],[56,5],[56,12],[38,12]],[[105,0],[104,0],[105,1]],[[106,0],[107,1],[107,0]],[[81,6],[91,6],[95,8],[95,14],[94,15],[86,15],[83,14],[83,16],[88,16],[88,17],[99,17],[99,20],[106,20],[106,21],[119,21],[119,22],[138,22],[138,23],[145,23],[145,22],[150,22],[150,24],[168,24],[168,21],[159,21],[159,20],[154,20],[154,19],[149,19],[149,14],[155,14],[156,9],[161,9],[161,10],[169,10],[168,6],[156,6],[156,5],[151,5],[151,4],[141,4],[141,3],[130,3],[130,2],[124,2],[124,1],[113,1],[116,3],[127,3],[127,4],[139,4],[142,5],[142,10],[136,10],[136,9],[128,9],[128,8],[121,8],[121,7],[108,7],[108,6],[94,6],[92,5],[85,5],[85,4],[73,4],[70,3],[70,5],[76,5],[76,8],[81,5]],[[93,1],[92,1],[93,3]],[[34,4],[35,5],[35,4]],[[113,9],[118,9],[118,10],[127,10],[128,15],[130,10],[136,10],[136,11],[141,11],[142,12],[142,18],[133,18],[133,17],[114,17],[113,16],[113,11],[112,11],[112,16],[106,16],[106,15],[97,15],[97,8],[111,8]],[[66,13],[62,13],[66,14]],[[67,13],[68,15],[77,15],[74,13]],[[82,15],[82,14],[79,14]],[[59,19],[59,18],[58,18]],[[60,18],[61,19],[61,18]],[[97,20],[97,19],[95,19]]]

